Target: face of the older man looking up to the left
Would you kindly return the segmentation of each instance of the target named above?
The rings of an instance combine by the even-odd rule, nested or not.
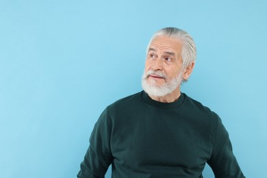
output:
[[[181,59],[181,41],[167,36],[156,37],[149,46],[145,73],[155,71],[147,76],[147,82],[154,86],[164,86],[171,80],[183,77]]]

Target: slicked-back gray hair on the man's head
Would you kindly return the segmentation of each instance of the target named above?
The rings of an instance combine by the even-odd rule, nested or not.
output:
[[[181,58],[183,60],[183,67],[188,66],[196,60],[196,44],[194,44],[192,36],[190,36],[190,34],[188,34],[186,31],[176,27],[166,27],[160,29],[152,36],[147,47],[147,52],[152,40],[155,39],[157,36],[168,36],[170,38],[181,40]]]

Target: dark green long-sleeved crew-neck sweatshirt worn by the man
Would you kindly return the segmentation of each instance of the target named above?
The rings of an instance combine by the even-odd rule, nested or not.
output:
[[[217,114],[181,93],[173,103],[139,92],[109,105],[99,117],[77,177],[244,177]]]

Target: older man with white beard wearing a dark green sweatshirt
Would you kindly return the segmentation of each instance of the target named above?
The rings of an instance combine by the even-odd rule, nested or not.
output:
[[[147,47],[144,91],[107,106],[94,126],[77,177],[244,177],[219,116],[180,91],[196,48],[181,29],[157,31]]]

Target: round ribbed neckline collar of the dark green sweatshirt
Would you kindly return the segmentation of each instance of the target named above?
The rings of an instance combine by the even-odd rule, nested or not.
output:
[[[177,101],[174,101],[172,103],[162,103],[160,101],[155,101],[155,100],[151,99],[151,97],[149,97],[149,94],[147,94],[147,92],[142,91],[142,98],[144,99],[144,102],[146,102],[147,104],[149,104],[153,107],[160,107],[163,109],[179,107],[184,101],[184,95],[185,94],[183,94],[181,92],[181,95],[180,95],[179,99],[177,99]]]

